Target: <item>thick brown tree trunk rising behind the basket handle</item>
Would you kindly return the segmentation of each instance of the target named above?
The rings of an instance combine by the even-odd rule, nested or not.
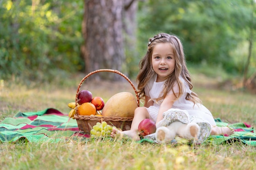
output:
[[[114,69],[123,72],[125,62],[122,36],[122,0],[85,0],[82,47],[85,72]],[[124,72],[123,72],[124,73]],[[125,73],[124,73],[125,74]],[[118,74],[104,73],[95,78],[119,80]]]

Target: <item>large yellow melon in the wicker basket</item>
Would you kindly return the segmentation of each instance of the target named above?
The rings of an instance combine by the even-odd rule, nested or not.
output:
[[[130,92],[120,92],[112,96],[102,109],[102,116],[133,117],[138,107],[137,100]]]

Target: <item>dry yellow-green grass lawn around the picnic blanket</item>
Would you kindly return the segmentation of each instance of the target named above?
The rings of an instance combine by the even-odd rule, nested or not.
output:
[[[215,118],[228,122],[256,125],[255,95],[213,88],[214,78],[193,76],[194,89]],[[63,113],[74,101],[77,85],[83,75],[67,78],[66,86],[56,84],[27,88],[22,84],[4,82],[0,87],[0,121],[18,111],[40,111],[54,107]],[[209,83],[210,82],[210,83]],[[207,84],[208,83],[208,84]],[[133,89],[127,82],[87,81],[81,87],[106,101],[117,92]],[[98,169],[98,170],[169,170],[169,169],[248,169],[256,166],[256,150],[235,143],[230,145],[202,144],[138,144],[129,139],[113,142],[104,140],[69,140],[59,143],[2,143],[1,169]]]

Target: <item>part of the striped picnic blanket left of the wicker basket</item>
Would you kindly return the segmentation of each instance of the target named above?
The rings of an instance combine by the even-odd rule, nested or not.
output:
[[[76,120],[57,109],[18,112],[0,122],[0,142],[60,142],[74,137],[90,137],[79,132]]]

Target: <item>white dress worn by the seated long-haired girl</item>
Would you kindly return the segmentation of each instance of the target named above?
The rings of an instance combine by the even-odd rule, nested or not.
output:
[[[159,111],[159,107],[162,104],[163,100],[159,100],[156,102],[155,98],[159,98],[161,95],[162,89],[164,87],[164,82],[156,82],[157,74],[153,76],[153,78],[149,81],[148,85],[145,87],[145,94],[146,96],[149,96],[153,101],[154,104],[153,106],[150,106],[147,108],[150,119],[155,121],[157,120],[157,114]],[[185,80],[180,77],[180,80],[183,83],[183,94],[182,96],[176,100],[173,103],[173,109],[181,109],[181,110],[186,110],[189,113],[190,116],[190,121],[197,123],[200,128],[201,128],[201,134],[200,134],[200,139],[199,143],[201,143],[206,137],[209,136],[210,131],[211,131],[211,126],[215,126],[216,123],[214,121],[214,118],[211,114],[211,112],[204,107],[202,104],[196,104],[194,105],[193,102],[186,100],[186,95],[187,93],[191,93],[191,90],[189,89],[189,85],[185,82]],[[179,88],[177,84],[173,88],[174,93],[179,92]],[[172,94],[173,92],[170,91],[168,94]]]

